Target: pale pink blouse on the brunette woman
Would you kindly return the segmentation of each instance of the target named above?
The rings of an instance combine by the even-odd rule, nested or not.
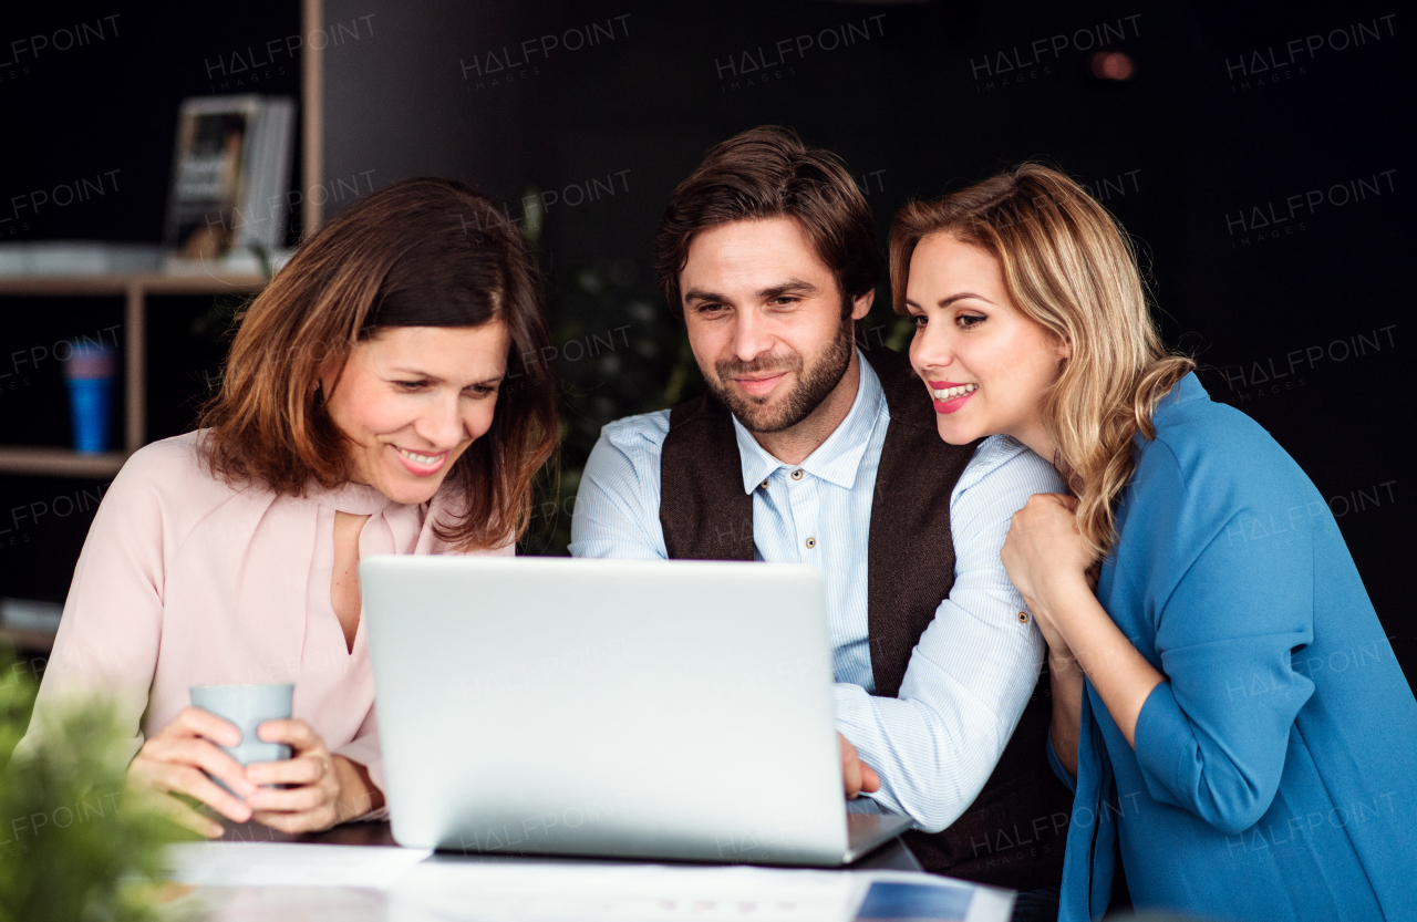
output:
[[[451,554],[432,533],[444,493],[401,506],[353,483],[305,499],[234,489],[201,466],[200,438],[140,449],[103,496],[35,714],[71,690],[102,690],[136,753],[191,704],[191,685],[292,683],[295,717],[383,790],[364,619],[349,650],[330,605],[334,513],[368,516],[361,558]]]

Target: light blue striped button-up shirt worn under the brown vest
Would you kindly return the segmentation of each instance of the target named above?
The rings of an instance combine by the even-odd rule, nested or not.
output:
[[[860,357],[860,353],[857,353]],[[784,465],[734,419],[754,557],[812,564],[826,579],[836,725],[881,776],[873,795],[928,831],[954,823],[988,780],[1029,701],[1043,637],[999,559],[1009,518],[1060,493],[1053,466],[1007,436],[975,450],[949,497],[955,585],[910,659],[896,698],[876,697],[866,561],[876,470],[890,411],[864,357],[842,425],[801,465]],[[669,411],[605,426],[581,479],[571,554],[663,559],[659,457]]]

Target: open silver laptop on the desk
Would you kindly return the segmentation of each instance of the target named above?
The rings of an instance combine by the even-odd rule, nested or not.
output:
[[[833,867],[847,814],[825,589],[796,564],[370,557],[394,838]]]

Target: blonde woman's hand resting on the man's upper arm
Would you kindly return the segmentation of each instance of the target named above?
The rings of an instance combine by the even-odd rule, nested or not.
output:
[[[1033,612],[1054,656],[1071,656],[1057,616],[1080,592],[1093,595],[1097,569],[1093,548],[1077,530],[1077,499],[1037,493],[1013,514],[1000,558],[1009,581]]]

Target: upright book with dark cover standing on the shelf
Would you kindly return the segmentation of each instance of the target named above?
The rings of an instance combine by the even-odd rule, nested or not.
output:
[[[163,242],[186,259],[278,249],[289,224],[295,101],[196,96],[177,116]]]

